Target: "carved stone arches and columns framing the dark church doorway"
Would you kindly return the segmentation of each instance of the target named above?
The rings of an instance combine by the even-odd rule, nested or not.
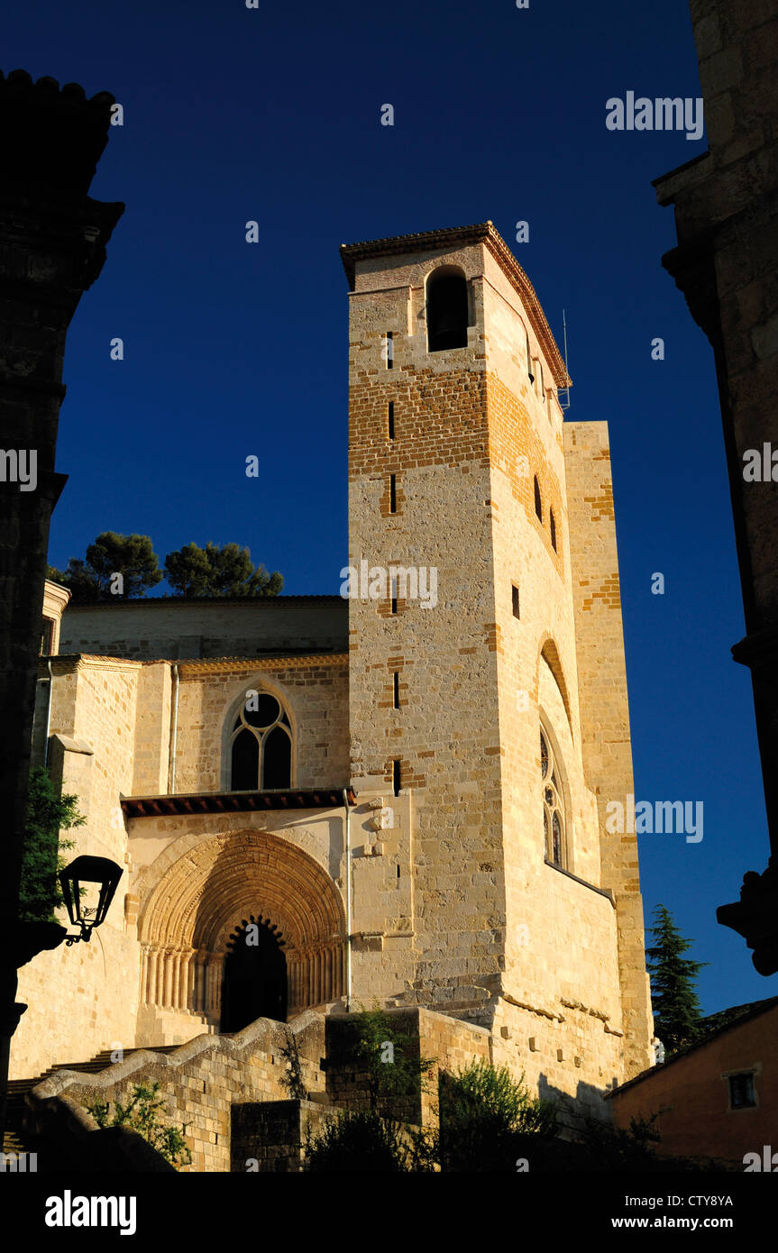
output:
[[[164,856],[169,865],[138,917],[142,1005],[218,1026],[231,937],[252,916],[283,936],[288,1016],[342,995],[343,907],[308,853],[271,832],[242,831],[182,837]]]

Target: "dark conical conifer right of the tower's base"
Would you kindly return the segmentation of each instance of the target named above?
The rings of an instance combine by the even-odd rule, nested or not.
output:
[[[683,956],[694,940],[684,940],[664,905],[656,906],[650,930],[656,941],[645,950],[650,959],[648,969],[651,977],[654,1030],[670,1058],[694,1044],[699,1036],[702,1011],[694,984],[698,972],[708,962],[690,961]]]

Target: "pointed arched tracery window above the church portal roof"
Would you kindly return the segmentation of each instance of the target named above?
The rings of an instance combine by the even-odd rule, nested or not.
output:
[[[292,732],[286,709],[269,692],[249,695],[229,741],[233,792],[272,792],[292,786]]]

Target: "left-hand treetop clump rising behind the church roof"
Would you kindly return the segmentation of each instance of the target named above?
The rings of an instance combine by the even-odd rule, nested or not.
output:
[[[103,531],[86,549],[85,561],[71,558],[66,570],[49,568],[49,578],[69,588],[75,604],[108,600],[112,595],[112,576],[115,574],[122,575],[122,595],[128,599],[144,596],[150,588],[162,583],[159,560],[148,535]]]

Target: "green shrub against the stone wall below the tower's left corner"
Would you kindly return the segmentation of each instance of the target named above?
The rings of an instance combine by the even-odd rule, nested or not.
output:
[[[383,1118],[401,1116],[403,1105],[417,1104],[428,1090],[435,1058],[421,1056],[417,1037],[395,1026],[377,1002],[372,1010],[361,1007],[352,1025],[351,1060],[366,1076],[371,1110]]]

